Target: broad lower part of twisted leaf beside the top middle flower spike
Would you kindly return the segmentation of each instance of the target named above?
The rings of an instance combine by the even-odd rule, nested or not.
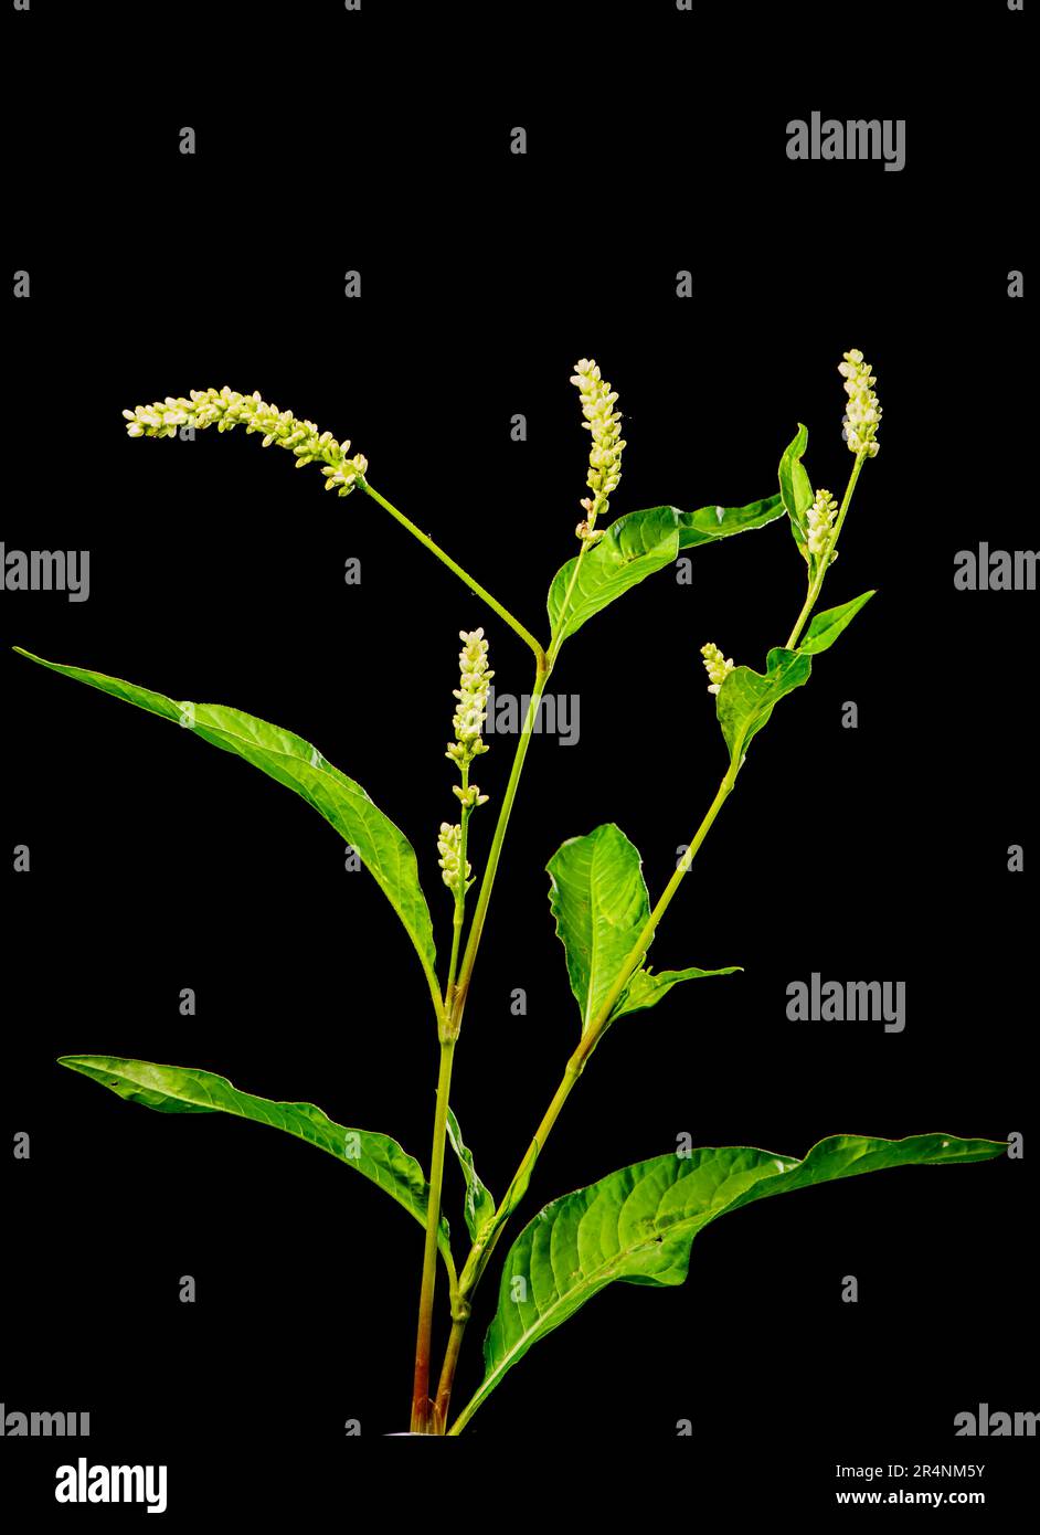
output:
[[[678,517],[675,507],[650,507],[618,517],[586,553],[574,591],[571,579],[578,557],[568,560],[549,588],[552,639],[563,643],[630,586],[670,565],[680,546]]]

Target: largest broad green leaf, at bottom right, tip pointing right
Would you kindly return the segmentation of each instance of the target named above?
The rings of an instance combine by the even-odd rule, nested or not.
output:
[[[681,1285],[693,1237],[718,1216],[811,1183],[911,1164],[980,1162],[1005,1147],[954,1136],[831,1136],[802,1162],[753,1147],[704,1147],[637,1162],[555,1199],[509,1249],[485,1340],[485,1378],[453,1432],[532,1343],[606,1285]]]

